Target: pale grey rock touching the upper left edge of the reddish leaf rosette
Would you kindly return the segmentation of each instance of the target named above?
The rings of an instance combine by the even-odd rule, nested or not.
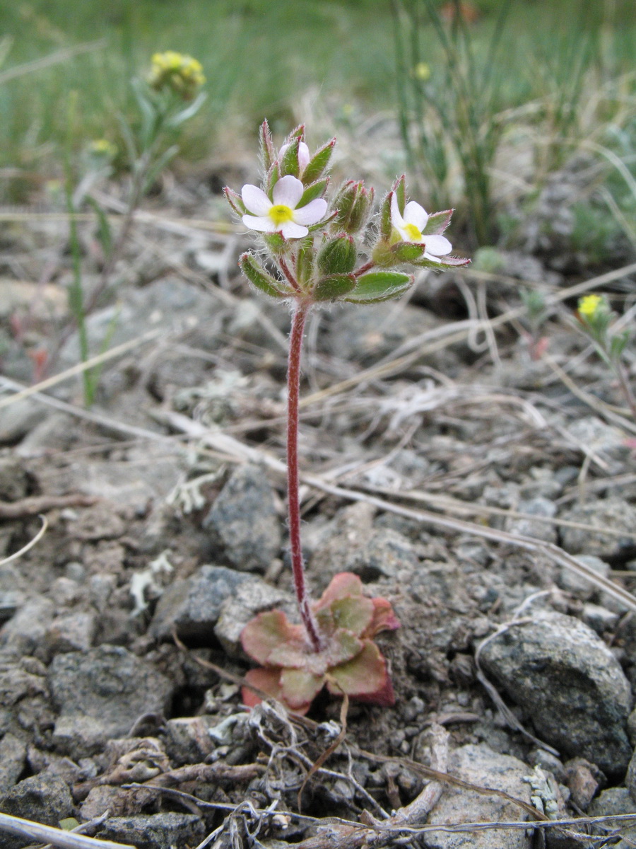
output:
[[[257,613],[274,607],[287,607],[293,610],[291,596],[254,576],[239,584],[236,595],[223,603],[215,625],[216,638],[226,654],[232,658],[245,660],[246,655],[241,647],[243,628],[250,619],[254,619]]]

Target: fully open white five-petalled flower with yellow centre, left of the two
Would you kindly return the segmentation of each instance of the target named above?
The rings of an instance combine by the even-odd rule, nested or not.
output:
[[[241,196],[248,211],[254,215],[244,215],[243,224],[250,230],[260,233],[282,233],[283,239],[302,239],[310,231],[311,224],[317,224],[325,217],[326,200],[315,198],[297,209],[304,193],[304,185],[287,174],[281,177],[272,191],[274,202],[258,186],[243,186]]]

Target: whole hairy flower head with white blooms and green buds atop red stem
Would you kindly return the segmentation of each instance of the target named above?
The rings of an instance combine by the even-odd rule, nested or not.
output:
[[[226,188],[226,199],[243,224],[259,233],[279,274],[265,270],[254,253],[240,258],[257,289],[305,306],[325,301],[370,304],[399,297],[413,283],[405,266],[449,268],[470,260],[449,256],[442,233],[452,210],[427,215],[407,201],[404,177],[382,200],[379,224],[372,220],[374,191],[348,180],[330,197],[328,171],[335,138],[312,155],[298,127],[280,149],[265,121],[260,128],[260,187]]]

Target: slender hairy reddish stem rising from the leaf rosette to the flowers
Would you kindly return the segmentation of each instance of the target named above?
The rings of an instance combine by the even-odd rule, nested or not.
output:
[[[323,647],[318,623],[310,607],[304,582],[303,549],[300,543],[300,497],[298,493],[298,398],[300,395],[300,352],[309,305],[296,301],[287,359],[287,510],[292,554],[293,584],[300,617],[315,651]]]

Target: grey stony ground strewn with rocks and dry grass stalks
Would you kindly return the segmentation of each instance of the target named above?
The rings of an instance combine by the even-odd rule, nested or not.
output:
[[[95,350],[114,328],[93,406],[70,377],[0,408],[0,556],[46,517],[42,538],[0,564],[0,810],[75,818],[137,849],[209,835],[271,849],[586,845],[584,824],[408,829],[522,822],[539,805],[535,818],[636,810],[629,792],[620,810],[603,796],[631,791],[636,772],[636,600],[620,594],[636,586],[636,426],[572,319],[584,286],[571,287],[608,269],[567,276],[545,253],[500,251],[498,273],[429,275],[397,304],[315,313],[300,446],[308,580],[317,597],[354,571],[391,600],[401,628],[377,642],[396,703],[343,711],[323,693],[306,718],[247,713],[237,623],[279,604],[293,614],[289,316],[238,276],[246,237],[191,223],[219,219],[217,183],[166,183],[138,222],[88,323]],[[77,363],[64,228],[37,216],[4,228],[3,403],[38,376],[40,351],[63,343],[47,374]],[[99,245],[92,225],[81,235],[90,291]],[[534,338],[521,285],[548,305]],[[605,284],[621,312],[635,289],[633,270]],[[632,347],[632,377],[634,362]],[[514,635],[544,621],[531,657]],[[477,663],[506,623],[489,644],[508,638],[505,650],[484,646]],[[587,654],[557,658],[579,626]],[[594,652],[611,680],[586,665]]]

